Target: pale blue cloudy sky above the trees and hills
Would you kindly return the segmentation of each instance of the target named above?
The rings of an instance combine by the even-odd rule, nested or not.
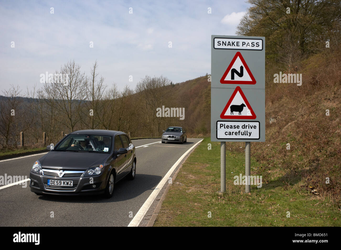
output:
[[[146,75],[174,83],[203,76],[210,73],[211,35],[235,35],[247,7],[238,0],[1,1],[0,95],[10,84],[23,93],[40,88],[40,74],[70,60],[88,75],[97,60],[105,84],[120,89]]]

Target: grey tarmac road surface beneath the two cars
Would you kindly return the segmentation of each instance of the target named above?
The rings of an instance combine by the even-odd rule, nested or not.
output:
[[[0,189],[0,226],[128,226],[168,170],[200,140],[189,138],[184,144],[162,144],[161,139],[133,140],[135,147],[142,146],[136,148],[135,179],[118,182],[110,199],[38,196],[30,191],[28,182]],[[146,144],[150,145],[143,146]],[[29,178],[34,161],[42,156],[0,161],[0,176]]]

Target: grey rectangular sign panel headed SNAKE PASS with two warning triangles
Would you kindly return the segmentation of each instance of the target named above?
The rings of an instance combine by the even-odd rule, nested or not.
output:
[[[211,141],[265,141],[265,38],[211,37]]]

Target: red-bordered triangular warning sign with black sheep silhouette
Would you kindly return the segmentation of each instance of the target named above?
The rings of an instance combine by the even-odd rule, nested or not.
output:
[[[239,86],[236,87],[231,98],[228,100],[221,119],[256,119],[248,100]]]

